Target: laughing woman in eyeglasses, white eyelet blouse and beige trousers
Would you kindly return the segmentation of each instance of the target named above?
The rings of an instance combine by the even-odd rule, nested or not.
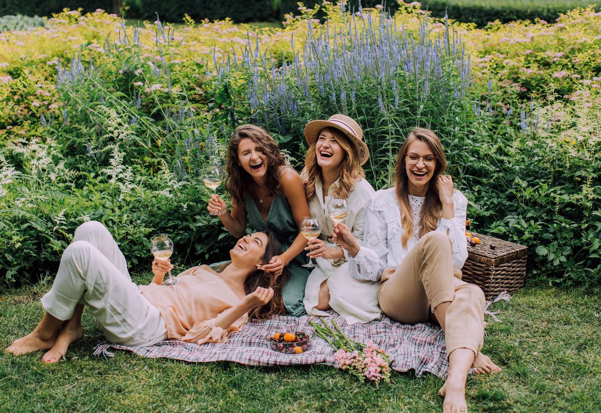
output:
[[[382,311],[401,323],[438,322],[445,331],[449,374],[439,390],[444,412],[467,411],[468,371],[499,369],[480,353],[484,340],[484,294],[461,281],[468,257],[468,201],[441,175],[447,160],[432,130],[413,129],[397,156],[394,188],[377,191],[367,207],[363,244],[343,224],[338,243],[349,252],[350,275],[380,280]]]

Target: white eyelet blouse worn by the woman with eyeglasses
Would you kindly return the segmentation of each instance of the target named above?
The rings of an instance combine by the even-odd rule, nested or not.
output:
[[[404,248],[401,243],[403,227],[395,188],[380,189],[370,199],[365,213],[363,244],[358,254],[349,257],[350,276],[359,280],[377,281],[386,268],[397,268],[407,252],[419,241],[419,212],[424,197],[409,195],[413,210],[413,236]],[[453,192],[454,218],[438,221],[436,231],[448,234],[453,245],[453,268],[461,269],[468,259],[465,240],[465,219],[468,200],[455,190]]]

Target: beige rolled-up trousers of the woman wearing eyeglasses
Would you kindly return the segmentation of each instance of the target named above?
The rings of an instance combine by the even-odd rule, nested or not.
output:
[[[401,323],[432,319],[439,304],[450,301],[445,316],[447,356],[466,348],[477,355],[484,341],[484,293],[453,271],[451,240],[440,231],[427,233],[397,269],[386,269],[380,281],[382,311]],[[459,278],[458,278],[459,277]]]

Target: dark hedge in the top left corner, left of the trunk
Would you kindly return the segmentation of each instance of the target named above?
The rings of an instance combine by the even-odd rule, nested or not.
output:
[[[60,13],[65,7],[71,10],[81,7],[84,13],[102,8],[112,13],[113,0],[0,0],[0,16],[6,14],[52,16],[52,13]]]

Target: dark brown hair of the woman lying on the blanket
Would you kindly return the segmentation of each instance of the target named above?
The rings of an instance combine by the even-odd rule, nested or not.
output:
[[[265,252],[263,253],[263,257],[261,257],[261,262],[263,262],[263,264],[267,264],[274,255],[282,254],[282,246],[280,245],[278,238],[275,236],[273,231],[266,230],[261,232],[267,236]],[[227,263],[216,266],[214,269],[217,272],[222,272],[230,264],[231,261],[228,261]],[[266,272],[262,269],[253,269],[244,281],[244,292],[246,295],[254,292],[257,287],[272,287],[273,298],[270,299],[267,304],[261,305],[261,307],[253,308],[248,316],[258,320],[267,320],[271,316],[280,316],[281,314],[285,314],[286,307],[284,305],[284,298],[282,297],[282,289],[284,289],[286,281],[288,281],[288,277],[290,277],[290,273],[285,267],[284,271],[282,271],[282,274],[279,277],[273,275],[273,272]]]

